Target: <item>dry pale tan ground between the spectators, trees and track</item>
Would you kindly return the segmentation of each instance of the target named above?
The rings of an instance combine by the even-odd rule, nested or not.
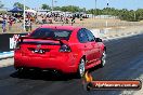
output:
[[[62,22],[53,22],[53,24],[46,24],[46,25],[70,26],[72,24],[70,24],[70,19],[69,19],[69,24],[63,24]],[[39,26],[41,26],[41,25],[32,24],[32,30]],[[133,31],[142,30],[143,22],[125,22],[125,21],[120,21],[120,19],[99,19],[99,18],[86,18],[83,21],[80,21],[80,19],[76,18],[76,23],[74,24],[74,26],[86,27],[88,29],[112,28],[112,30],[109,30],[109,33],[107,33],[107,35],[113,35],[113,33],[116,35],[119,29],[122,32],[130,32],[132,30]],[[23,23],[14,24],[11,29],[9,28],[9,26],[6,26],[6,32],[9,32],[9,33],[25,32],[23,30]],[[1,27],[0,27],[0,33],[2,33]]]

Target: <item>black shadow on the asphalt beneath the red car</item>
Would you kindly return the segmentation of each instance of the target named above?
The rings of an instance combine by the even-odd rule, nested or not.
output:
[[[100,69],[100,66],[95,66],[91,69],[88,69],[90,73]],[[27,70],[24,72],[15,71],[10,74],[12,78],[18,79],[30,79],[30,80],[46,80],[46,81],[69,81],[74,79],[79,79],[75,73],[66,74],[62,72],[54,71],[41,71],[41,70]]]

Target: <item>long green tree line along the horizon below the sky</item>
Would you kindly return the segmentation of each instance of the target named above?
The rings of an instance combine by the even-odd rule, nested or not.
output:
[[[42,4],[41,9],[43,10],[52,10],[52,8],[48,4]],[[86,8],[79,8],[75,5],[67,5],[67,6],[54,6],[54,11],[63,11],[63,12],[84,12],[87,14],[93,14],[93,15],[112,15],[117,16],[121,21],[128,21],[128,22],[140,22],[143,21],[143,9],[138,10],[118,10],[115,8],[104,8],[104,9],[90,9],[87,10]]]

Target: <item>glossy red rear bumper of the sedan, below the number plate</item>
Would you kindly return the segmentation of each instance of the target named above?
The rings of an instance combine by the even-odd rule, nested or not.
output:
[[[76,72],[78,64],[75,63],[69,56],[58,57],[29,57],[29,56],[14,56],[14,67],[17,68],[39,68],[39,69],[52,69],[62,72],[70,73]]]

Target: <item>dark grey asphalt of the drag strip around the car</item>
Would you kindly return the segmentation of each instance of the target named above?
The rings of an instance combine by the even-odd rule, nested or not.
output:
[[[143,74],[143,35],[109,40],[104,43],[107,46],[106,65],[103,68],[90,69],[94,80],[132,80]],[[13,63],[10,59],[8,59],[8,63]],[[0,95],[122,94],[121,91],[86,92],[81,82],[74,76],[32,71],[18,76],[13,66],[0,68]]]

